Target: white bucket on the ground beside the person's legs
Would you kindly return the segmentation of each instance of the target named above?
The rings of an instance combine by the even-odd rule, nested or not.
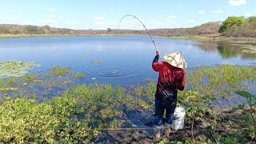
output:
[[[176,107],[174,111],[174,120],[170,125],[172,129],[179,130],[184,128],[186,111],[182,107]]]

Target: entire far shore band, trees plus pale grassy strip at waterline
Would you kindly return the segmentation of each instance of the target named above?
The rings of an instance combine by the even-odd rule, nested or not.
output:
[[[256,41],[256,16],[229,17],[224,22],[207,22],[192,28],[149,30],[154,37],[182,38],[214,41]],[[115,36],[147,35],[146,30],[72,30],[50,26],[21,26],[0,24],[0,38],[30,38],[56,36]]]

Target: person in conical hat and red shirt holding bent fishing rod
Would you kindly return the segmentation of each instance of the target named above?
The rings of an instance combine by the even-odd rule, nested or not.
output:
[[[170,125],[173,122],[174,110],[177,105],[178,90],[184,90],[186,74],[182,70],[186,68],[186,62],[181,52],[166,54],[166,62],[158,62],[160,51],[156,51],[152,62],[154,71],[159,73],[158,85],[155,93],[155,137],[161,138],[160,130],[164,124],[162,118],[166,110],[165,135],[170,135]]]

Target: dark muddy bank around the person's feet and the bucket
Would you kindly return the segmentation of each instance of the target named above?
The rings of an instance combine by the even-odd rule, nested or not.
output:
[[[256,112],[256,110],[255,110]],[[239,139],[238,135],[239,130],[247,130],[244,127],[242,122],[242,116],[248,114],[248,110],[232,110],[232,109],[223,109],[222,111],[218,111],[217,114],[217,125],[216,129],[212,130],[210,127],[205,126],[204,122],[194,122],[194,139],[198,142],[212,142],[215,143],[216,140],[220,137],[225,138],[228,135],[234,136]],[[142,112],[137,116],[141,119],[145,118],[144,114],[148,114],[147,112]],[[151,116],[150,118],[153,117]],[[130,130],[129,128],[123,128],[123,130],[102,130],[102,135],[96,141],[97,143],[177,143],[177,142],[192,142],[192,131],[191,124],[186,122],[184,129],[182,130],[172,130],[170,137],[166,138],[163,134],[162,130],[162,138],[160,140],[156,140],[154,138],[154,123],[150,121],[150,125],[148,121],[140,122],[140,126],[134,125],[134,130]],[[136,128],[140,128],[136,130]],[[243,127],[243,128],[241,128]],[[142,130],[144,128],[145,130]],[[240,136],[240,139],[243,138],[241,143],[256,143],[256,139],[246,139],[243,135]],[[189,141],[190,140],[190,141]]]

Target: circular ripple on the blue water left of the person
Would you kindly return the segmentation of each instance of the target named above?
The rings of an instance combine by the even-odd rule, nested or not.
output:
[[[87,67],[91,74],[101,75],[104,77],[118,77],[122,75],[132,74],[133,69],[130,66],[122,64],[95,64]]]

